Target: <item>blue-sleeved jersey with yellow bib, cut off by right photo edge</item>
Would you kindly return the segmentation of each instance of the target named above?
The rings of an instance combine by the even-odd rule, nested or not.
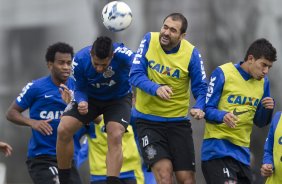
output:
[[[266,183],[282,183],[282,112],[277,112],[271,122],[268,136],[264,145],[263,164],[272,164],[273,174]]]

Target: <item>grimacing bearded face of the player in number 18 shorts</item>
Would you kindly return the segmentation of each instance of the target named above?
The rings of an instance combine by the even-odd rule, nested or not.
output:
[[[159,41],[164,50],[171,50],[176,47],[184,38],[185,33],[180,32],[182,23],[179,20],[172,20],[168,17],[161,28]]]

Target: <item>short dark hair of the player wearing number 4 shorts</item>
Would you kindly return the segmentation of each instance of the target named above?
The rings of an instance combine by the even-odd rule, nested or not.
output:
[[[265,38],[257,39],[250,45],[245,55],[244,61],[248,60],[249,55],[253,55],[256,60],[265,58],[271,62],[274,62],[277,59],[276,49]]]

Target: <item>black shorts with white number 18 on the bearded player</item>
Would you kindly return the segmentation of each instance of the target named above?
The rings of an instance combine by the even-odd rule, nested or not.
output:
[[[173,171],[195,171],[195,150],[189,121],[151,122],[136,120],[142,157],[148,168],[157,161],[171,160]]]

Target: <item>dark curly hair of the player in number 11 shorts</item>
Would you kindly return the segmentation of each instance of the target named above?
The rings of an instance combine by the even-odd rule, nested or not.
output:
[[[48,47],[47,52],[45,54],[46,61],[54,62],[56,52],[71,54],[71,58],[73,58],[74,54],[72,46],[67,43],[57,42]]]

